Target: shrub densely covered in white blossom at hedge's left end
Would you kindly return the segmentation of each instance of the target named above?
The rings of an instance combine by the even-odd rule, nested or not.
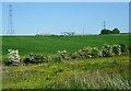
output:
[[[20,64],[20,55],[17,49],[9,49],[8,50],[8,59],[4,61],[7,66],[13,65],[17,66]]]

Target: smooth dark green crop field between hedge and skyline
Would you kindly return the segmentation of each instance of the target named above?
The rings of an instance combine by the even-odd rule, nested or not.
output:
[[[21,56],[29,53],[56,55],[57,50],[73,53],[87,46],[102,47],[105,43],[128,45],[129,35],[2,36],[2,55],[5,56],[9,48],[19,49]]]

